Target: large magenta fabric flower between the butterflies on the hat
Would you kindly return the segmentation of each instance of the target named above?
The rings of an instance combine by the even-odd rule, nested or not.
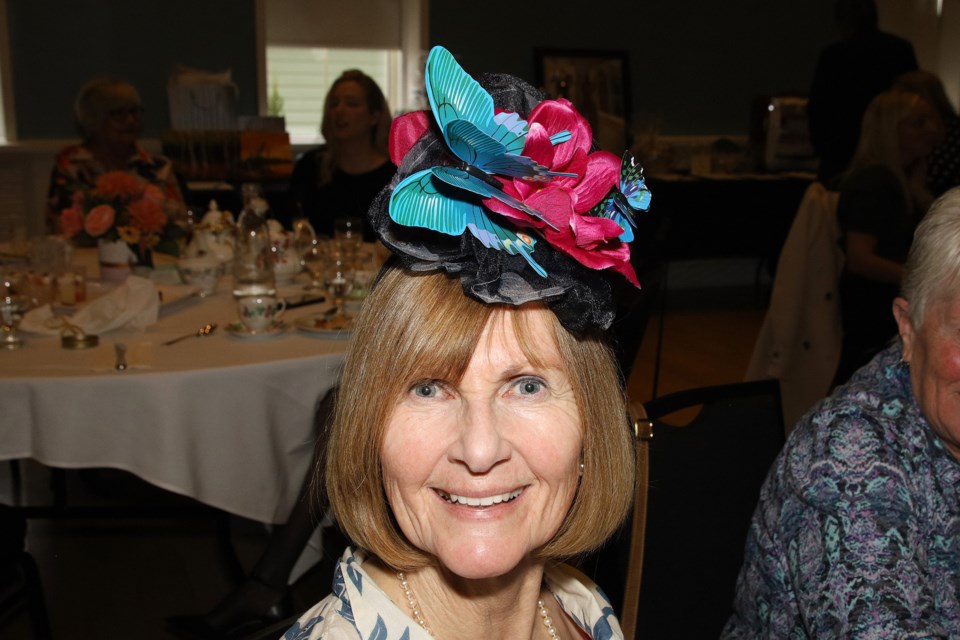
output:
[[[577,177],[549,182],[520,178],[497,179],[504,191],[539,211],[557,230],[494,198],[484,200],[491,211],[532,226],[554,248],[591,269],[613,269],[640,286],[630,264],[630,247],[619,239],[623,230],[608,218],[584,215],[619,187],[620,159],[606,151],[590,153],[590,124],[564,99],[544,100],[530,113],[523,155],[551,171]],[[569,131],[570,140],[553,145],[550,136]]]

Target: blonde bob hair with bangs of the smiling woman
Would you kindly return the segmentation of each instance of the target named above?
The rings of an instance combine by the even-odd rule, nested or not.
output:
[[[536,365],[526,308],[510,307],[514,312],[505,320]],[[410,570],[432,562],[399,530],[384,493],[381,450],[393,409],[418,380],[460,380],[486,323],[507,309],[467,297],[456,278],[400,267],[388,267],[364,303],[341,377],[326,487],[344,532],[391,567]],[[590,551],[613,534],[630,507],[636,466],[610,350],[600,338],[574,337],[549,316],[580,413],[584,467],[566,518],[535,552],[543,561]]]

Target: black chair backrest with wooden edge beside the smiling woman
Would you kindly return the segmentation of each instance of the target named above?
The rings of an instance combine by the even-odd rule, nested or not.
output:
[[[662,420],[696,406],[686,426]],[[635,628],[638,638],[717,638],[760,487],[784,442],[779,383],[690,389],[645,408],[648,483],[638,489],[633,532],[641,539],[631,544],[621,622],[628,637]]]

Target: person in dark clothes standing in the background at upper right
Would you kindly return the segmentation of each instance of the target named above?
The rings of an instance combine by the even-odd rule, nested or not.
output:
[[[877,27],[874,0],[837,0],[834,15],[841,40],[820,52],[807,106],[817,179],[828,188],[853,158],[870,100],[917,68],[913,45]]]

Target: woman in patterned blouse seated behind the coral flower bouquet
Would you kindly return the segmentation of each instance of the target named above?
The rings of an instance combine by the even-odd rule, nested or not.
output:
[[[47,226],[52,233],[60,231],[60,213],[72,206],[74,194],[92,189],[108,171],[125,171],[159,187],[168,218],[183,209],[170,160],[137,143],[142,117],[140,94],[127,82],[97,78],[80,89],[74,118],[82,140],[57,153],[50,175]]]

